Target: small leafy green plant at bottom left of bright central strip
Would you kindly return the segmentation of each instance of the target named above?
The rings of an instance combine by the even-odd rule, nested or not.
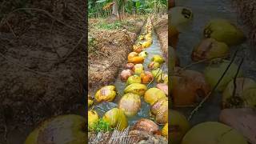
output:
[[[113,131],[114,128],[110,127],[110,124],[108,122],[103,121],[102,118],[98,120],[98,122],[95,122],[94,125],[92,126],[92,129],[94,132],[107,132],[107,131]]]

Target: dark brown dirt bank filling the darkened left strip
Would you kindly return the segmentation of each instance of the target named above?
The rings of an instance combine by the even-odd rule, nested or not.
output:
[[[2,7],[9,4],[5,2]],[[86,2],[82,0],[42,0],[26,3],[26,7],[32,9],[3,15],[0,24],[0,143],[2,136],[8,139],[11,130],[20,130],[20,124],[35,126],[45,118],[78,113],[84,107],[84,6]],[[18,134],[20,137],[22,135]]]

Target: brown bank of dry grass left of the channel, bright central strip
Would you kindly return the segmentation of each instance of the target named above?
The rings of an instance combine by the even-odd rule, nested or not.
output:
[[[99,29],[100,26],[97,23],[101,21],[91,20],[94,26],[90,27],[89,34],[89,90],[97,90],[99,86],[114,82],[119,68],[126,62],[126,57],[132,50],[137,34],[142,29],[145,20],[145,18],[129,18],[125,20],[127,21],[126,25],[122,24],[118,30],[111,30],[111,27],[106,27],[110,30]],[[119,26],[118,22],[116,25]]]

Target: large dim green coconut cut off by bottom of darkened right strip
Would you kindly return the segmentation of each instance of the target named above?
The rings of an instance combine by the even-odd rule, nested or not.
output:
[[[242,134],[220,122],[203,122],[190,129],[182,144],[247,144]]]

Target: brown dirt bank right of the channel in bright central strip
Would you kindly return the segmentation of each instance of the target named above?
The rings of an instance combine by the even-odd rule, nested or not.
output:
[[[168,18],[154,18],[153,26],[154,31],[158,34],[162,52],[168,59]]]

